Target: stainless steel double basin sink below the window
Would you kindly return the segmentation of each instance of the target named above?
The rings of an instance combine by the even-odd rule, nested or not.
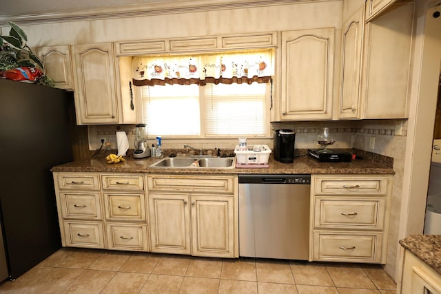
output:
[[[235,167],[235,161],[235,158],[220,157],[166,157],[150,167],[229,169]]]

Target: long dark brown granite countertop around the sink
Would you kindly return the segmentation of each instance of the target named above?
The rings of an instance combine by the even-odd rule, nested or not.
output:
[[[150,174],[394,174],[393,168],[381,160],[352,160],[351,162],[318,162],[310,156],[298,156],[293,163],[281,163],[269,156],[266,168],[216,169],[203,167],[158,168],[150,167],[162,158],[135,159],[127,156],[124,162],[107,164],[103,156],[68,162],[53,167],[52,171],[92,171]]]

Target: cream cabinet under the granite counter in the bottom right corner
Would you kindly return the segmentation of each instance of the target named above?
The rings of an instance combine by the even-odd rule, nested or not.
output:
[[[407,249],[401,249],[402,273],[400,294],[440,294],[441,275]]]

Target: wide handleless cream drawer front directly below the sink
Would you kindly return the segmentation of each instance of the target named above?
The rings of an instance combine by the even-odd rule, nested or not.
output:
[[[149,191],[203,191],[234,193],[232,176],[148,176]]]

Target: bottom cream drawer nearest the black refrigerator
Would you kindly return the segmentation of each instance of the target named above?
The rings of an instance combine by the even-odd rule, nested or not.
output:
[[[101,222],[64,222],[67,246],[104,248]]]

